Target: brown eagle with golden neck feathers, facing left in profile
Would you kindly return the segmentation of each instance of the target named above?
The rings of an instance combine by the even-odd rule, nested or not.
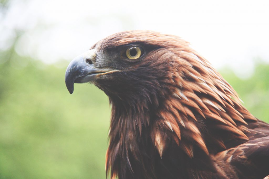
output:
[[[93,83],[111,104],[111,179],[263,179],[269,124],[182,38],[153,31],[108,36],[65,74]]]

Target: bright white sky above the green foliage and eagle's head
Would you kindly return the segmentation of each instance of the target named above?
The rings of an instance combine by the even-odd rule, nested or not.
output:
[[[0,12],[0,50],[45,63],[71,61],[95,42],[125,30],[181,36],[214,67],[247,78],[258,57],[269,62],[269,1],[12,0]]]

